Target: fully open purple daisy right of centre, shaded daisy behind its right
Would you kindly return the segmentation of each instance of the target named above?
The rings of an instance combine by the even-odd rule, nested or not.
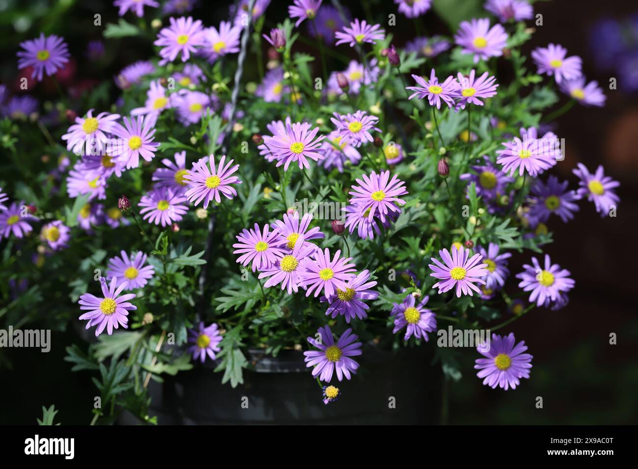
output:
[[[463,246],[460,249],[452,249],[451,256],[447,249],[439,251],[439,255],[445,265],[438,259],[431,258],[435,265],[429,264],[433,272],[430,276],[440,279],[432,288],[438,287],[441,294],[456,287],[457,297],[461,297],[461,293],[472,296],[472,290],[480,294],[479,287],[474,284],[485,285],[486,282],[482,278],[489,273],[486,269],[487,264],[479,264],[482,255],[477,253],[468,259],[470,249],[464,249]]]

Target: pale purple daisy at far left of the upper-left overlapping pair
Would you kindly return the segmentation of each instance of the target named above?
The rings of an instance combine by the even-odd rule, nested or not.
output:
[[[119,114],[108,112],[100,112],[93,117],[93,109],[89,109],[86,117],[76,117],[75,124],[62,136],[62,140],[66,140],[66,149],[75,154],[92,154],[93,149],[100,152],[109,143],[107,133],[114,130],[119,118]]]

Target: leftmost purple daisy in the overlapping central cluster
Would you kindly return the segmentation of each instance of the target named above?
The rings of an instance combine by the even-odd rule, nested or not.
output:
[[[241,254],[237,258],[239,264],[246,267],[252,262],[253,272],[257,269],[265,271],[285,255],[285,249],[282,246],[285,241],[281,240],[277,228],[272,231],[270,229],[268,223],[263,225],[263,231],[255,223],[254,230],[244,228],[239,235],[235,236],[239,242],[233,244],[233,248],[237,248],[233,254]]]

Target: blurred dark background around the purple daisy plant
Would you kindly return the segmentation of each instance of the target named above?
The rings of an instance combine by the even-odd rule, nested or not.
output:
[[[445,6],[446,2],[436,4]],[[230,2],[229,2],[230,3]],[[205,26],[217,25],[228,19],[223,1],[200,1],[191,13]],[[289,1],[274,0],[269,7],[270,22],[278,22],[286,14]],[[329,0],[324,0],[329,3]],[[365,18],[359,1],[343,1],[353,17]],[[449,0],[449,7],[458,2]],[[470,3],[470,0],[463,0]],[[481,4],[482,2],[477,2]],[[375,19],[396,13],[390,0],[367,2]],[[560,311],[535,309],[511,326],[499,332],[513,331],[524,339],[534,355],[530,380],[524,380],[516,391],[489,389],[476,378],[473,352],[461,354],[463,379],[450,384],[449,423],[451,424],[635,424],[638,423],[638,316],[634,286],[635,227],[638,215],[638,80],[619,67],[634,60],[632,56],[614,60],[605,70],[599,61],[604,56],[605,40],[597,24],[613,19],[632,24],[638,31],[638,5],[634,1],[594,0],[539,1],[535,14],[543,15],[543,26],[537,27],[533,40],[525,47],[560,43],[569,55],[583,58],[583,73],[589,80],[598,80],[607,95],[604,108],[584,108],[576,105],[558,120],[556,133],[565,138],[565,161],[553,170],[560,179],[568,179],[575,188],[572,169],[577,162],[590,170],[604,165],[605,171],[621,182],[618,190],[621,203],[616,218],[600,218],[593,204],[581,202],[581,211],[570,223],[552,220],[555,242],[547,246],[554,262],[572,272],[576,288],[570,303]],[[145,11],[152,11],[146,9]],[[105,40],[106,52],[100,63],[85,59],[89,40],[102,40],[103,27],[93,25],[94,14],[102,15],[102,25],[117,21],[117,9],[110,1],[22,1],[0,0],[0,82],[17,91],[19,80],[15,51],[17,43],[37,36],[40,31],[64,36],[70,45],[69,77],[61,79],[68,91],[90,91],[98,80],[110,80],[121,68],[153,54],[151,43],[124,38]],[[148,15],[147,15],[148,17]],[[136,22],[130,13],[126,19]],[[404,18],[397,15],[401,21]],[[431,34],[450,35],[447,24],[430,11],[423,17],[424,29]],[[533,21],[528,20],[530,26]],[[403,47],[414,33],[412,21],[399,22],[392,30],[394,43]],[[305,31],[305,26],[301,27]],[[634,33],[638,34],[638,33]],[[600,52],[600,47],[603,52]],[[298,45],[299,50],[314,53],[311,47]],[[635,57],[635,53],[634,56]],[[354,57],[353,57],[354,58]],[[528,65],[532,68],[530,62]],[[249,67],[255,67],[249,61]],[[329,63],[332,70],[341,64]],[[256,80],[256,69],[248,68],[249,79]],[[618,78],[618,89],[609,90],[609,78]],[[63,77],[61,77],[63,78]],[[66,81],[65,81],[66,80]],[[623,81],[624,80],[624,81]],[[114,84],[108,88],[108,100],[117,96]],[[34,91],[41,101],[54,98],[52,83],[43,82]],[[110,101],[108,101],[110,102]],[[554,108],[560,107],[565,97]],[[551,111],[551,110],[550,110]],[[513,274],[528,262],[530,253],[515,255],[510,261]],[[516,288],[515,283],[508,283]],[[609,334],[618,335],[618,345],[609,345]],[[33,350],[9,349],[13,369],[0,369],[1,424],[31,424],[41,415],[41,405],[56,405],[57,421],[64,424],[87,424],[87,411],[96,394],[90,382],[91,373],[71,373],[70,364],[63,361],[64,346],[82,343],[69,327],[55,332],[54,346],[48,354]],[[431,346],[431,345],[429,345]],[[541,396],[544,408],[535,408]],[[438,405],[438,403],[433,403]]]

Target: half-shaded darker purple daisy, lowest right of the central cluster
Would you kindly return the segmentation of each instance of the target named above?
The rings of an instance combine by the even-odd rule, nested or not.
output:
[[[370,272],[366,269],[346,282],[345,290],[337,288],[336,293],[332,296],[322,296],[320,301],[330,304],[325,315],[332,315],[333,319],[338,315],[344,316],[348,324],[354,318],[367,318],[366,310],[369,309],[369,306],[363,300],[376,300],[379,296],[378,292],[371,290],[375,287],[376,281],[368,281],[369,279]]]

